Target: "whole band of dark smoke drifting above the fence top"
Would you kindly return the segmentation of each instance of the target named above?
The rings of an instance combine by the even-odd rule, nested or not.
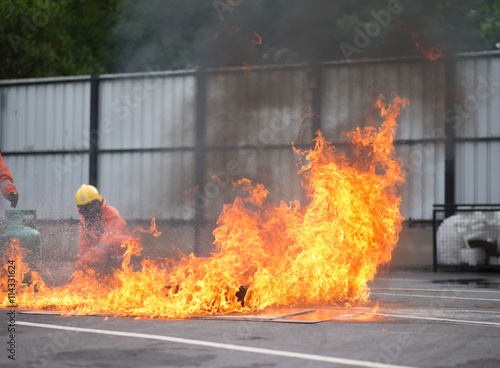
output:
[[[119,71],[415,55],[417,42],[460,50],[474,44],[472,3],[124,0]]]

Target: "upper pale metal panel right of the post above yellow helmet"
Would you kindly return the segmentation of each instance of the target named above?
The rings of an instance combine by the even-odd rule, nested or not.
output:
[[[194,76],[102,81],[100,148],[193,146]]]

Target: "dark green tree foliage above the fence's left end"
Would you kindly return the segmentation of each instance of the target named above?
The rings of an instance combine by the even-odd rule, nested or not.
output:
[[[0,0],[0,78],[115,68],[119,0]]]

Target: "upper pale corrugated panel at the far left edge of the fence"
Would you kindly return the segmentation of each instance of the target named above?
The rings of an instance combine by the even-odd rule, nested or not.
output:
[[[88,83],[1,87],[4,151],[87,149]]]

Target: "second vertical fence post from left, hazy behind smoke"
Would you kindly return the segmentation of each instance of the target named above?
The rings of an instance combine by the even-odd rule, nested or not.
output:
[[[193,253],[200,253],[201,228],[205,220],[205,204],[203,196],[203,180],[205,177],[206,155],[206,114],[207,114],[207,72],[200,69],[196,78],[196,148],[195,148],[195,186],[198,193],[194,201],[194,246]]]

